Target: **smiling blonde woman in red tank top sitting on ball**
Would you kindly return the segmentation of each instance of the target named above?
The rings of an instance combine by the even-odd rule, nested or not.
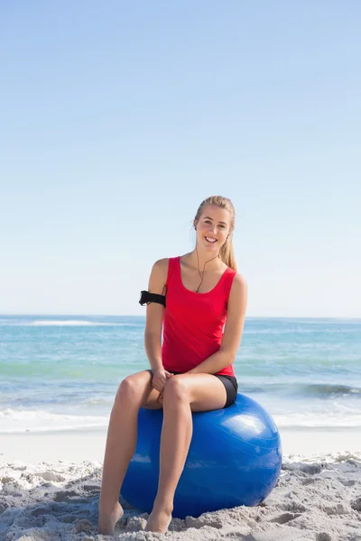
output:
[[[190,447],[191,412],[227,408],[236,399],[232,363],[245,323],[247,287],[236,274],[232,202],[208,197],[194,227],[195,249],[156,261],[149,291],[143,292],[151,370],[128,376],[116,393],[99,500],[100,534],[113,535],[123,516],[118,496],[135,450],[139,408],[163,408],[159,485],[146,530],[164,533]]]

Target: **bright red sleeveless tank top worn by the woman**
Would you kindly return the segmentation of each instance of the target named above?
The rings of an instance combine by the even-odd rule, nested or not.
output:
[[[180,256],[169,260],[163,317],[162,363],[167,371],[189,371],[218,352],[227,319],[227,300],[236,272],[229,267],[215,288],[195,293],[183,286]],[[233,365],[217,372],[234,376]]]

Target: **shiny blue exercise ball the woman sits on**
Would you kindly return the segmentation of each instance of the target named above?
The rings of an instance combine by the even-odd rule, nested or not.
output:
[[[282,466],[273,418],[239,393],[229,408],[192,417],[190,452],[175,492],[173,517],[258,505],[273,490]],[[138,442],[121,491],[128,503],[147,513],[158,488],[162,418],[162,410],[141,408]]]

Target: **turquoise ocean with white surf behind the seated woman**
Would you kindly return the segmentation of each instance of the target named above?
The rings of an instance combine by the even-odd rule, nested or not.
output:
[[[149,368],[143,316],[0,316],[0,434],[107,426],[116,389]],[[360,427],[361,320],[246,318],[239,392],[279,428]]]

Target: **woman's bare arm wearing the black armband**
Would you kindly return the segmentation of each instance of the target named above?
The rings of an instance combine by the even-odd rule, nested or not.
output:
[[[167,281],[169,259],[155,261],[149,278],[148,291],[164,295]],[[153,372],[153,388],[162,391],[169,372],[164,371],[162,364],[162,323],[164,307],[151,302],[146,307],[146,323],[144,331],[144,346]]]

